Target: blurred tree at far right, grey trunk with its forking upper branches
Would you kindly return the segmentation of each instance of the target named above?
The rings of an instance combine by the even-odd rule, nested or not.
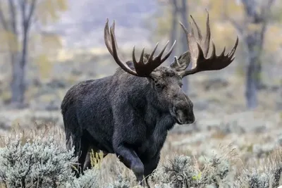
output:
[[[228,0],[226,0],[228,1]],[[233,0],[232,0],[233,1]],[[243,19],[235,20],[229,10],[225,9],[225,15],[233,26],[238,30],[242,42],[247,47],[247,72],[245,84],[245,97],[247,108],[256,108],[257,89],[262,84],[262,49],[266,35],[266,27],[270,21],[271,6],[275,0],[257,1],[241,0],[236,1],[243,8]]]

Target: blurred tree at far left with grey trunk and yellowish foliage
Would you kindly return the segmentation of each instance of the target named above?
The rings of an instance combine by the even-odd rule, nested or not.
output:
[[[59,12],[64,10],[66,10],[66,0],[0,1],[1,47],[2,51],[8,51],[11,58],[11,104],[16,107],[24,104],[25,69],[32,41],[30,37],[37,37],[37,35],[30,35],[32,26],[47,25],[47,23],[57,20]],[[44,46],[44,42],[41,44]]]

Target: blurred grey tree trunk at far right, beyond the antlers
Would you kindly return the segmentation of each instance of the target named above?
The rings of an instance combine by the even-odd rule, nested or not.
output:
[[[262,24],[261,30],[250,30],[250,34],[247,35],[245,42],[249,53],[249,62],[247,66],[246,75],[246,100],[247,108],[253,109],[257,107],[257,89],[262,86],[262,64],[260,62],[260,55],[262,54],[262,47],[264,45],[264,35],[266,32],[268,13],[274,0],[266,1],[264,6],[260,7],[260,11],[257,11],[257,1],[243,0],[245,8],[245,20],[247,23],[255,25]]]

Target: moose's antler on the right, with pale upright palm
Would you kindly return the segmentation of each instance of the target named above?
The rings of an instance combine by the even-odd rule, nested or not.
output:
[[[233,49],[231,49],[231,51],[227,55],[224,55],[224,52],[226,50],[226,47],[224,47],[221,54],[219,56],[216,56],[216,47],[214,45],[214,42],[212,42],[212,55],[207,58],[207,54],[209,53],[209,41],[211,37],[211,30],[209,27],[209,12],[207,11],[207,34],[205,39],[203,39],[202,32],[195,22],[194,18],[192,17],[192,15],[190,16],[196,26],[198,39],[195,37],[193,29],[191,30],[191,32],[188,32],[187,28],[185,28],[185,26],[180,23],[187,37],[189,51],[181,55],[183,56],[186,54],[185,62],[177,62],[178,60],[175,59],[175,62],[172,63],[171,66],[175,67],[176,69],[178,68],[180,75],[182,77],[185,77],[187,75],[192,75],[206,70],[221,70],[230,65],[235,58],[234,54],[238,46],[238,37],[236,39],[235,45],[233,46]],[[185,63],[185,66],[183,66],[183,63]],[[192,63],[192,68],[190,70],[185,70],[188,67],[189,63]]]

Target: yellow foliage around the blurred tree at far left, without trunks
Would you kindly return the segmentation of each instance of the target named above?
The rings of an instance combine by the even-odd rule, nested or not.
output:
[[[32,0],[25,1],[27,6],[30,6]],[[4,7],[4,17],[9,18],[9,11],[7,4],[1,4]],[[59,13],[66,11],[67,0],[38,0],[36,1],[35,13],[33,18],[37,18],[40,23],[46,25],[49,22],[54,22],[59,18]],[[20,14],[19,14],[20,15]],[[19,20],[22,20],[20,18]],[[10,23],[8,23],[10,25]],[[18,27],[19,32],[23,30]],[[51,70],[51,54],[57,52],[61,48],[61,39],[58,35],[42,35],[32,33],[30,30],[28,40],[28,54],[35,58],[35,63],[38,65],[41,76],[48,77]],[[18,35],[15,35],[11,30],[0,30],[1,49],[3,51],[21,51],[22,40],[19,40]]]

